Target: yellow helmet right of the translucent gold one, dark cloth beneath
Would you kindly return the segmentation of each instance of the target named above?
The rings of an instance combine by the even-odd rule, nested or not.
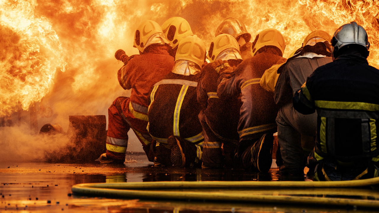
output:
[[[262,30],[255,37],[255,40],[251,46],[251,55],[254,56],[259,49],[265,46],[275,46],[279,48],[279,50],[282,52],[281,56],[283,56],[285,49],[285,41],[282,33],[273,28]]]

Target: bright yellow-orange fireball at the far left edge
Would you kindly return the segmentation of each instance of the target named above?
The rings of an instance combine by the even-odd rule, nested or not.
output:
[[[0,1],[0,116],[27,110],[48,92],[62,47],[49,20],[34,17],[35,1]]]

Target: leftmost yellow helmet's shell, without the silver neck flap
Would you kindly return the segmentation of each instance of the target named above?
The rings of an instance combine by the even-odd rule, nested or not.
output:
[[[134,36],[134,42],[133,47],[136,47],[139,51],[143,52],[145,47],[147,46],[146,43],[149,41],[150,38],[152,38],[153,35],[161,33],[162,39],[165,41],[166,38],[163,35],[161,26],[155,21],[152,20],[146,20],[142,22],[136,30],[135,36]]]

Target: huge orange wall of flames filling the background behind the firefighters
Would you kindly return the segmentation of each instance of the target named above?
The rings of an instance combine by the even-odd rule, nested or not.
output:
[[[285,36],[284,56],[313,30],[333,34],[356,21],[369,34],[369,63],[379,65],[377,0],[0,0],[0,116],[19,105],[27,110],[44,96],[52,119],[107,114],[117,96],[127,95],[117,82],[122,64],[114,52],[138,53],[132,45],[139,23],[173,16],[188,20],[207,45],[227,17],[240,19],[252,39],[276,28]]]

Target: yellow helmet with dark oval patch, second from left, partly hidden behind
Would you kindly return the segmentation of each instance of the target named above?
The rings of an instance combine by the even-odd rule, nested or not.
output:
[[[162,24],[163,33],[174,49],[183,38],[192,36],[189,23],[182,17],[171,17]]]

